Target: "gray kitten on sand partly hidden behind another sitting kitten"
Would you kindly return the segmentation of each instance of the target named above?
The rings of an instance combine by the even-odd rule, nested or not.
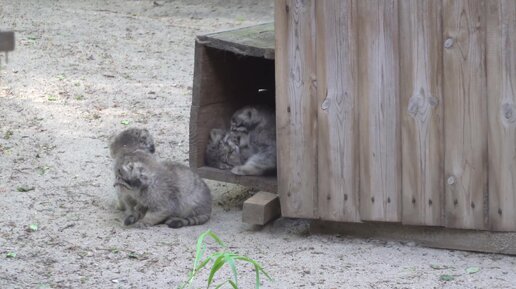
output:
[[[136,150],[142,150],[148,153],[154,153],[154,139],[146,129],[129,128],[123,130],[111,139],[109,152],[113,159],[123,157],[127,153]],[[134,208],[136,201],[131,198],[129,192],[124,187],[117,188],[118,209],[126,211]]]

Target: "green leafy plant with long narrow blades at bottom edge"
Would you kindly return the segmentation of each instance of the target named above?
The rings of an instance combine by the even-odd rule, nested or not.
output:
[[[209,256],[204,257],[206,253],[206,238],[211,237],[219,246],[222,247],[221,251],[215,252]],[[254,270],[256,272],[256,283],[255,288],[260,288],[260,273],[263,273],[267,279],[272,281],[272,278],[265,272],[265,270],[262,268],[262,266],[256,262],[255,260],[236,254],[234,252],[228,251],[227,246],[222,242],[222,240],[211,230],[208,230],[204,233],[202,233],[199,238],[197,239],[197,246],[196,246],[196,252],[195,252],[195,260],[193,264],[192,271],[188,274],[188,280],[184,283],[182,283],[178,288],[184,289],[184,288],[191,288],[192,282],[194,281],[195,277],[199,274],[199,272],[206,267],[209,263],[211,263],[211,270],[208,276],[208,284],[206,288],[210,288],[211,285],[214,285],[215,288],[221,288],[226,283],[229,283],[231,287],[234,289],[238,289],[238,274],[237,274],[237,268],[236,268],[236,261],[243,261],[245,263],[249,263],[254,266]],[[231,268],[231,271],[233,272],[233,279],[228,278],[226,281],[215,285],[214,277],[217,271],[219,271],[225,264],[228,264]]]

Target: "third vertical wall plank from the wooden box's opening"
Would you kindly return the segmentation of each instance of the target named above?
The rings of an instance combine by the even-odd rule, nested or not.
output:
[[[355,0],[362,220],[401,219],[397,3]]]

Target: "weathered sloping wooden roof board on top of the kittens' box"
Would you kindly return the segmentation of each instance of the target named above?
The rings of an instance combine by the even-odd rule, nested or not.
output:
[[[274,59],[274,23],[200,35],[197,41],[242,56]]]

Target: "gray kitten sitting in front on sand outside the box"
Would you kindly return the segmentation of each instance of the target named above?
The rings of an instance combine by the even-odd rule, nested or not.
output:
[[[212,197],[206,183],[190,168],[174,162],[158,162],[152,154],[137,150],[116,159],[115,185],[136,201],[124,224],[165,223],[170,228],[200,225],[211,215]]]

